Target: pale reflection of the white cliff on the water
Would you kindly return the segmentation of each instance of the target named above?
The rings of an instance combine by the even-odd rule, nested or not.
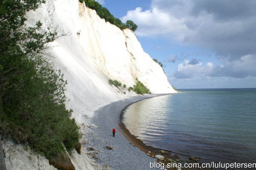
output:
[[[168,123],[167,114],[171,113],[168,107],[170,97],[153,97],[130,105],[125,111],[123,121],[131,134],[144,140],[157,140],[156,135],[166,135],[162,129]]]

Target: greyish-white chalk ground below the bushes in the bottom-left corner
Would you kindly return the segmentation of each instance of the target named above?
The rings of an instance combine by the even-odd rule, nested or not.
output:
[[[34,153],[25,146],[15,144],[10,140],[3,141],[3,149],[6,153],[5,163],[7,170],[57,170],[49,164],[49,160],[44,156]],[[77,151],[70,154],[72,163],[76,170],[98,170],[97,166],[87,157],[87,151],[82,149],[81,155]]]

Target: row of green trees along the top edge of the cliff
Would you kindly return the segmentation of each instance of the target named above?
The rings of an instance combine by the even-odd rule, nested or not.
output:
[[[106,22],[110,22],[113,25],[117,26],[118,28],[120,28],[121,30],[126,29],[126,28],[130,28],[132,31],[135,31],[137,29],[137,25],[132,22],[131,20],[128,20],[125,23],[122,23],[122,21],[118,18],[115,18],[108,9],[106,9],[105,7],[102,7],[101,4],[99,4],[97,1],[94,0],[79,0],[79,2],[85,2],[85,5],[87,7],[89,7],[90,9],[94,9],[96,10],[97,15],[99,15],[99,17],[104,18],[106,20]]]

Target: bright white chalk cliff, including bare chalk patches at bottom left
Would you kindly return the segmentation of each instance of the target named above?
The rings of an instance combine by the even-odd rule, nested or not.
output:
[[[78,0],[47,0],[39,9],[29,12],[27,17],[27,26],[34,26],[41,20],[44,29],[58,26],[59,31],[70,34],[51,43],[54,47],[48,52],[54,56],[49,59],[68,80],[66,96],[70,101],[67,105],[74,110],[73,116],[79,124],[85,122],[87,116],[93,116],[101,106],[136,95],[128,92],[127,88],[119,90],[111,86],[109,78],[129,87],[135,84],[137,77],[152,93],[176,93],[160,65],[143,51],[134,32],[129,29],[121,31],[105,22],[84,3]],[[6,149],[11,145],[6,145]],[[28,161],[32,160],[31,167],[26,169],[40,169],[36,162],[43,162],[43,159],[33,154],[30,156],[32,158],[25,161],[29,165]],[[76,169],[93,169],[86,159],[86,155],[76,154],[71,158]],[[85,163],[79,163],[82,161]],[[45,162],[43,164],[45,169],[54,169],[50,165],[47,167]],[[9,169],[23,167],[10,165]]]

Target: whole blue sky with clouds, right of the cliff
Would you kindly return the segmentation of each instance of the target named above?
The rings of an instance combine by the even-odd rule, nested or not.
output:
[[[138,25],[144,51],[178,89],[256,87],[255,0],[97,1]]]

